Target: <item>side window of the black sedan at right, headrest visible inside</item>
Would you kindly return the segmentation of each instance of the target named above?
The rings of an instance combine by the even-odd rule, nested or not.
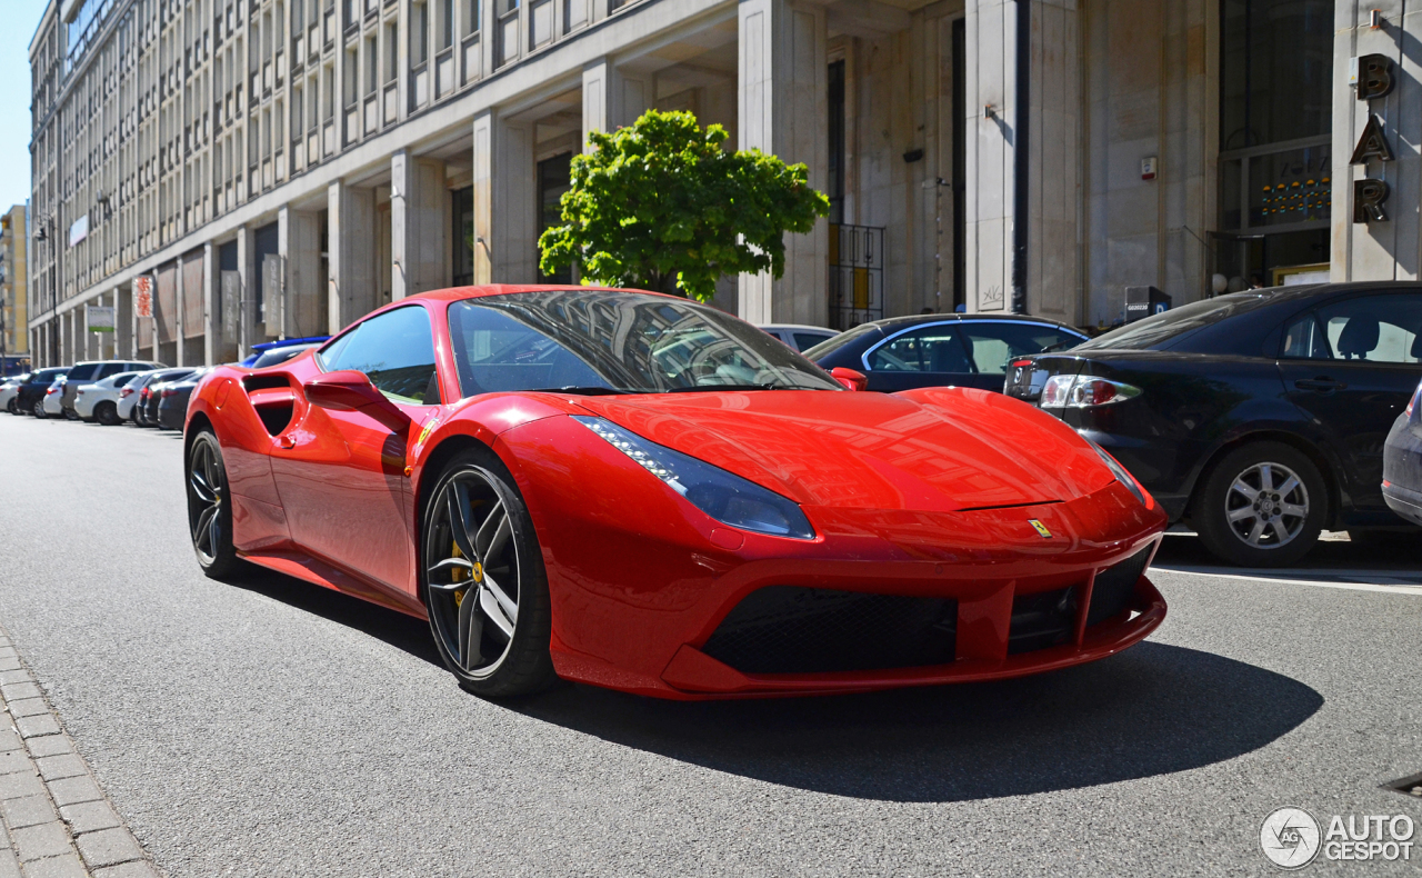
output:
[[[1418,363],[1422,293],[1355,296],[1325,305],[1285,327],[1284,356]]]

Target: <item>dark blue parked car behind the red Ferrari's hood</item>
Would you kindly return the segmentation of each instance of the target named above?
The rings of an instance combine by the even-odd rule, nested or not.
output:
[[[1014,357],[1065,350],[1086,340],[1078,329],[1015,314],[917,314],[862,323],[805,351],[822,369],[865,373],[869,390],[914,387],[1003,390]]]

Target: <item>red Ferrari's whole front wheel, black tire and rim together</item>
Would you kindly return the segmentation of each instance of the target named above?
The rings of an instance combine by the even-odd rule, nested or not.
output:
[[[421,579],[439,657],[483,697],[550,686],[547,579],[513,478],[492,453],[466,451],[429,497]]]

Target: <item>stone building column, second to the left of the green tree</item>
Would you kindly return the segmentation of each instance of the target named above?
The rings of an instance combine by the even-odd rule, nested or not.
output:
[[[449,286],[449,189],[444,162],[401,149],[390,159],[390,297]]]

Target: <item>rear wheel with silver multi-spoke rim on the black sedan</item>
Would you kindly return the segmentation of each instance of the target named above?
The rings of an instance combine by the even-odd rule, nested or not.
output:
[[[1327,507],[1327,485],[1308,455],[1284,443],[1250,443],[1212,467],[1193,519],[1221,561],[1287,566],[1318,542]]]

